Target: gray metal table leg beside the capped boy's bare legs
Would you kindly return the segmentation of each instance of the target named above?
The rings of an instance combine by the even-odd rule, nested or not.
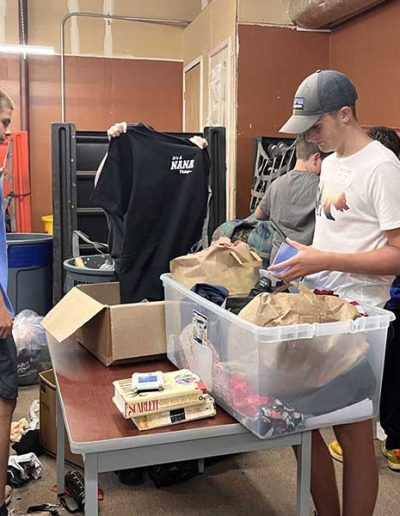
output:
[[[309,516],[311,497],[311,432],[301,434],[297,454],[297,515]]]

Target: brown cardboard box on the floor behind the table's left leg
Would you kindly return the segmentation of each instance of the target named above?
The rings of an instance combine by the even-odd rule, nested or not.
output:
[[[40,440],[46,453],[55,457],[57,455],[57,430],[56,430],[56,382],[52,369],[39,373],[40,387]],[[83,468],[82,455],[72,453],[69,448],[67,436],[65,436],[65,460]]]

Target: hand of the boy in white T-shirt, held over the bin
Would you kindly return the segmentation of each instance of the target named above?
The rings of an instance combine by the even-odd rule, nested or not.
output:
[[[271,265],[268,270],[274,272],[280,269],[287,269],[279,274],[274,273],[279,279],[284,281],[292,281],[296,278],[302,278],[309,274],[329,270],[330,254],[319,251],[312,246],[299,244],[290,238],[286,239],[287,243],[298,250],[298,253],[285,260],[284,262]]]

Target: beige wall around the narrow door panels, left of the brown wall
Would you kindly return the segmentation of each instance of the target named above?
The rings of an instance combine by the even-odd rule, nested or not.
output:
[[[187,66],[197,58],[203,63],[203,121],[208,125],[209,55],[229,41],[229,114],[227,137],[227,204],[228,216],[233,216],[236,202],[236,0],[213,0],[183,31],[183,60]]]

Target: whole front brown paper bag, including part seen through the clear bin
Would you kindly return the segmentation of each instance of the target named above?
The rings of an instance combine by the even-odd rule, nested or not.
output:
[[[353,320],[357,308],[335,296],[317,296],[303,285],[299,294],[259,294],[239,317],[259,326],[282,326]],[[368,351],[363,333],[316,336],[268,342],[255,360],[267,392],[285,396],[321,387],[345,373]]]

